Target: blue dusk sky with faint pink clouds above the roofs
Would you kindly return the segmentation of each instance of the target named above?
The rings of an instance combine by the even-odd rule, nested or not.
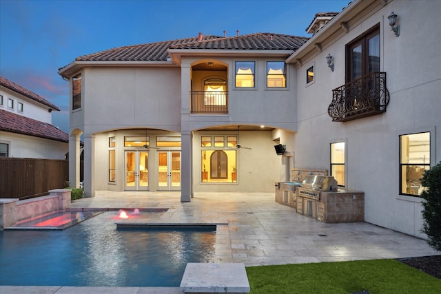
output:
[[[69,84],[57,74],[78,56],[125,45],[208,35],[310,36],[317,12],[350,0],[0,0],[0,74],[43,96],[68,132]]]

